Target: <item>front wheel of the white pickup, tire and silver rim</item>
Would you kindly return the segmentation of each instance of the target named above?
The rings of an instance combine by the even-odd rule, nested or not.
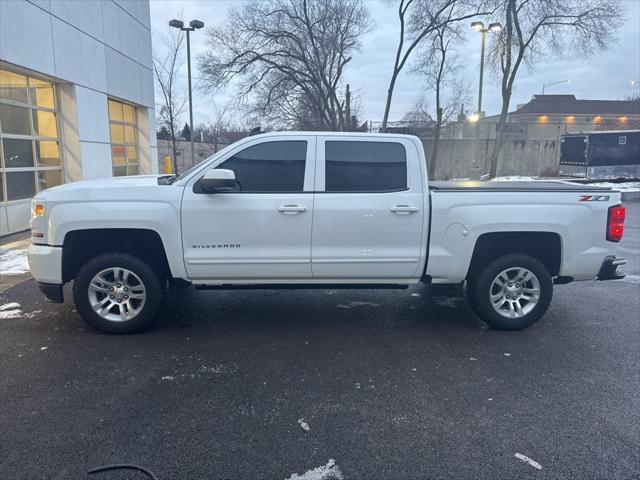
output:
[[[73,284],[82,318],[108,333],[144,330],[158,314],[162,284],[146,262],[126,253],[105,253],[85,263]]]

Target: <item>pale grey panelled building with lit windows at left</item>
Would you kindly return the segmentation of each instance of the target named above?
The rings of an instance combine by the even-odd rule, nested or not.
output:
[[[148,0],[0,1],[0,236],[30,199],[157,173]]]

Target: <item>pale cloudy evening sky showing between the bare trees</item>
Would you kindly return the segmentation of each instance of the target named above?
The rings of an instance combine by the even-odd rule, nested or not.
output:
[[[225,21],[230,8],[240,8],[241,0],[151,0],[151,29],[154,48],[161,48],[159,35],[168,32],[168,21],[183,13],[185,23],[198,19],[212,28]],[[392,7],[380,0],[365,0],[373,21],[373,28],[362,40],[362,46],[353,54],[353,60],[345,73],[345,81],[361,99],[360,121],[382,120],[386,92],[392,73],[398,41],[399,24]],[[533,68],[521,67],[516,78],[511,109],[526,103],[534,94],[542,93],[542,85],[559,80],[569,80],[548,87],[546,93],[574,94],[580,99],[617,100],[638,92],[640,88],[640,0],[623,0],[626,21],[618,40],[609,50],[589,58],[567,51],[561,57],[544,58]],[[489,19],[500,21],[499,18]],[[485,23],[487,21],[485,20]],[[490,22],[489,22],[490,23]],[[487,37],[491,42],[490,35]],[[206,34],[199,30],[191,35],[192,75],[198,83],[198,66],[195,60],[207,48]],[[459,55],[465,64],[460,75],[469,83],[471,104],[465,110],[474,111],[477,104],[480,70],[480,35],[469,29],[466,41],[459,47]],[[400,120],[416,101],[424,96],[427,105],[433,107],[433,93],[427,90],[419,77],[409,69],[401,74],[393,97],[390,120]],[[186,82],[186,66],[182,78]],[[501,107],[498,76],[485,67],[483,85],[483,110],[487,115],[499,113]],[[631,82],[636,81],[635,85]],[[194,89],[194,124],[207,123],[214,115],[211,99],[223,105],[232,98],[234,91],[207,92]],[[187,114],[184,115],[186,121]]]

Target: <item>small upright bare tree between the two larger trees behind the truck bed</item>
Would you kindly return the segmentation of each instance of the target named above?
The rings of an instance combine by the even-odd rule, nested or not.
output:
[[[436,125],[429,158],[429,174],[432,177],[438,161],[442,125],[470,98],[469,84],[461,73],[463,65],[453,47],[455,42],[462,40],[461,26],[460,23],[448,23],[436,28],[414,69],[424,77],[427,88],[433,90],[435,96]]]

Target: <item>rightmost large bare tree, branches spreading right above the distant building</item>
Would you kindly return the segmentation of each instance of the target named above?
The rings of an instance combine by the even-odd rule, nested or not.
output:
[[[502,109],[489,175],[496,176],[511,94],[523,63],[568,48],[588,56],[615,39],[622,18],[619,0],[503,0],[504,28],[490,58],[501,74]]]

